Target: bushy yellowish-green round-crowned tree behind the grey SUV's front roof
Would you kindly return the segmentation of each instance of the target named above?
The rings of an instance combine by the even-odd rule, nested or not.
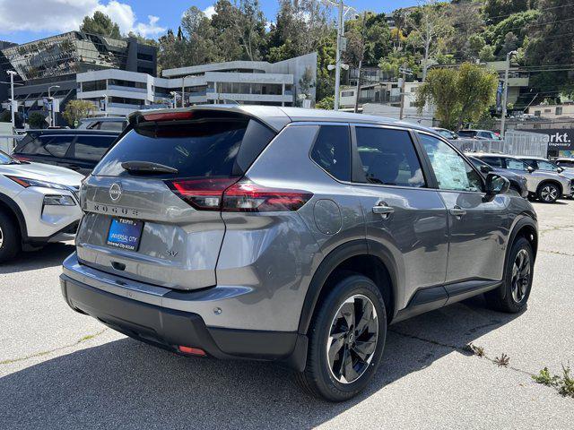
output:
[[[432,69],[417,91],[419,112],[425,105],[436,108],[442,126],[459,130],[464,122],[476,122],[496,99],[498,74],[476,64],[457,69]]]

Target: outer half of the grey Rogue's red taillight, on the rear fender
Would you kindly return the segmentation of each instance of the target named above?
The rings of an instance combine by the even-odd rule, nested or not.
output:
[[[308,191],[267,188],[250,181],[241,181],[223,193],[222,211],[298,211],[312,196],[313,193]]]

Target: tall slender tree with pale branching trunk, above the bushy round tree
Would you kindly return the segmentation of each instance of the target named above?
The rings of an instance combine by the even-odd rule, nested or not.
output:
[[[422,82],[427,76],[429,59],[437,52],[439,39],[448,36],[453,30],[443,6],[437,0],[425,0],[418,13],[407,18],[414,29],[409,40],[414,46],[422,48]]]

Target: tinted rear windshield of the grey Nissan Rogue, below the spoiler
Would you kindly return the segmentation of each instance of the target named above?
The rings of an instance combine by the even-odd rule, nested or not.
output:
[[[266,133],[253,133],[253,129],[261,128],[265,128]],[[138,125],[109,150],[93,175],[142,176],[122,168],[121,164],[126,161],[149,161],[177,168],[178,174],[163,175],[170,177],[240,175],[243,172],[238,167],[241,161],[238,159],[239,148],[247,135],[256,135],[258,141],[263,140],[256,145],[258,150],[250,159],[252,162],[274,133],[248,118]],[[253,142],[246,146],[253,146]]]

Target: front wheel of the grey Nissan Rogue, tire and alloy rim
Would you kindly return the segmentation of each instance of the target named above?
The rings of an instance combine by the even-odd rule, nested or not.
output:
[[[521,256],[527,261],[522,268],[518,268],[518,276],[527,272],[526,279],[517,279],[515,274],[515,265],[520,264]],[[484,294],[491,309],[509,314],[517,314],[526,309],[526,302],[532,289],[534,262],[535,257],[530,242],[525,237],[518,237],[512,245],[509,259],[506,262],[502,285]]]

